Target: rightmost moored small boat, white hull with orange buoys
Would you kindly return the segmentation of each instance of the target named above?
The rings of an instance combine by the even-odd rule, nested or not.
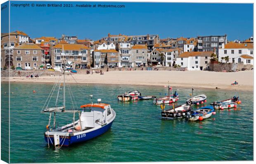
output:
[[[234,96],[232,99],[225,99],[220,102],[211,103],[214,109],[236,108],[237,104],[241,104],[241,100],[239,100],[239,97],[236,96]]]

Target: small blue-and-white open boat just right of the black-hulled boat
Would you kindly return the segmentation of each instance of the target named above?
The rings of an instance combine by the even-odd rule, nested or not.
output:
[[[214,112],[215,110],[213,109],[213,106],[204,106],[195,111],[192,111],[192,113],[187,115],[187,118],[190,121],[197,121],[197,120],[201,121],[206,118],[210,118]]]

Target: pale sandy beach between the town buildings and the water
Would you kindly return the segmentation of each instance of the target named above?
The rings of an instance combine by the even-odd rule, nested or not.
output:
[[[74,78],[74,79],[73,79]],[[253,71],[208,72],[208,71],[109,71],[101,74],[73,74],[66,76],[69,83],[102,83],[123,85],[168,85],[185,88],[212,88],[253,91]],[[10,77],[11,82],[56,82],[59,76],[38,78]],[[239,85],[231,85],[234,81]],[[8,81],[8,77],[2,77]]]

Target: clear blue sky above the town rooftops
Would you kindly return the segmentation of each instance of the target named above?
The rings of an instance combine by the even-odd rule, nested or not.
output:
[[[25,2],[11,4],[107,4],[125,8],[10,7],[11,31],[21,30],[31,38],[61,37],[100,39],[111,34],[166,37],[228,35],[244,40],[253,35],[252,4],[134,3],[134,2]],[[31,5],[30,5],[31,6]]]

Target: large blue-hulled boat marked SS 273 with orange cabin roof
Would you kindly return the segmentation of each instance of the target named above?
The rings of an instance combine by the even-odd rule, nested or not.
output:
[[[72,97],[73,93],[71,92],[71,90],[69,90],[69,94],[72,102],[72,108],[67,108],[65,102],[65,73],[63,70],[63,83],[55,83],[45,103],[46,107],[44,106],[41,111],[42,113],[50,113],[49,122],[46,126],[47,131],[44,133],[44,138],[49,147],[50,145],[53,145],[55,146],[55,148],[70,146],[73,143],[88,141],[92,138],[100,136],[111,128],[111,125],[116,118],[116,113],[111,108],[110,104],[101,103],[101,99],[98,99],[98,103],[96,104],[90,103],[81,105],[80,108],[74,107],[76,106],[76,104],[73,104],[73,102],[75,102],[75,99],[74,97]],[[66,85],[67,88],[70,89],[70,86],[68,84]],[[63,89],[61,86],[63,86]],[[51,104],[49,102],[53,95],[53,92],[55,91],[57,91],[57,99],[59,97],[59,93],[63,93],[63,105],[58,106],[59,103],[57,103],[58,101],[56,100],[56,103],[53,107],[48,107],[48,104]],[[90,95],[90,98],[92,99],[92,95]],[[56,114],[58,112],[71,113],[73,116],[73,122],[62,127],[58,127],[56,125]],[[78,114],[78,116],[76,116],[76,114]],[[53,120],[51,121],[52,115]]]

